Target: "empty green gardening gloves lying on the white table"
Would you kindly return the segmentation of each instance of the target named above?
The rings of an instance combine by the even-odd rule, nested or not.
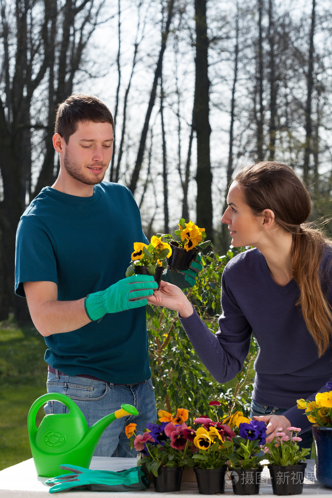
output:
[[[45,481],[51,486],[49,492],[57,493],[74,488],[90,491],[138,491],[146,490],[150,483],[142,467],[112,472],[107,470],[90,470],[75,465],[60,465],[60,469],[72,471]]]

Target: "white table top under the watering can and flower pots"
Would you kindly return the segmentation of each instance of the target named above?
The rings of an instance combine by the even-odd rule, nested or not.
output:
[[[321,487],[314,478],[314,460],[307,460],[308,465],[306,469],[306,477],[304,482],[303,496],[307,498],[317,498],[318,495],[326,495],[332,497],[332,489]],[[94,457],[91,462],[91,469],[94,470],[112,470],[119,471],[123,469],[129,469],[136,466],[135,458],[108,458],[108,457]],[[61,474],[61,469],[59,469],[59,475]],[[110,496],[119,496],[121,498],[157,498],[163,497],[178,497],[179,495],[186,495],[187,497],[198,498],[199,492],[197,489],[197,484],[195,482],[182,482],[181,491],[176,493],[156,493],[154,491],[153,484],[147,490],[140,492],[92,492],[87,490],[71,490],[64,493],[54,493],[50,495],[49,487],[45,485],[47,478],[38,477],[36,474],[33,459],[26,460],[20,464],[9,467],[0,471],[0,497],[6,498],[70,498],[84,497],[84,498],[107,498]],[[225,485],[224,496],[233,494],[232,487],[227,483]],[[202,495],[201,495],[202,496]],[[262,477],[259,497],[270,497],[274,496],[272,493],[272,488],[270,484],[269,471],[264,468]]]

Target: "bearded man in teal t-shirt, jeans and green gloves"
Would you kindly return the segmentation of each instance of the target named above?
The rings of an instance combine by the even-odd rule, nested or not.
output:
[[[148,241],[130,191],[103,181],[113,131],[96,97],[74,94],[60,104],[53,136],[60,171],[19,222],[15,292],[48,347],[48,392],[74,399],[89,426],[121,403],[137,408],[137,417],[112,422],[95,453],[126,457],[133,453],[125,425],[143,432],[156,420],[145,305],[157,284],[150,275],[124,278],[133,243]],[[62,411],[57,401],[45,406]]]

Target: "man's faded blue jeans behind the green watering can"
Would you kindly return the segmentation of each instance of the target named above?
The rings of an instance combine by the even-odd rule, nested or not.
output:
[[[129,423],[137,424],[137,434],[142,434],[148,422],[157,419],[154,387],[151,379],[140,384],[111,384],[101,380],[85,377],[71,377],[48,372],[47,392],[60,392],[72,398],[82,410],[88,426],[118,410],[122,403],[133,405],[139,415],[129,415],[115,419],[105,429],[98,443],[95,456],[100,457],[135,457],[137,451],[131,450],[124,428]],[[68,413],[69,409],[59,401],[48,401],[44,411],[50,413]]]

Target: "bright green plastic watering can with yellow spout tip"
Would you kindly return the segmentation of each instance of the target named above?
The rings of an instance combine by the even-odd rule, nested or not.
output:
[[[64,403],[70,412],[45,415],[37,428],[37,412],[50,400]],[[134,406],[122,404],[119,410],[98,420],[89,429],[85,416],[70,397],[56,392],[40,396],[28,413],[29,441],[38,476],[56,477],[59,466],[64,464],[88,469],[106,427],[125,415],[138,415],[138,411]]]

